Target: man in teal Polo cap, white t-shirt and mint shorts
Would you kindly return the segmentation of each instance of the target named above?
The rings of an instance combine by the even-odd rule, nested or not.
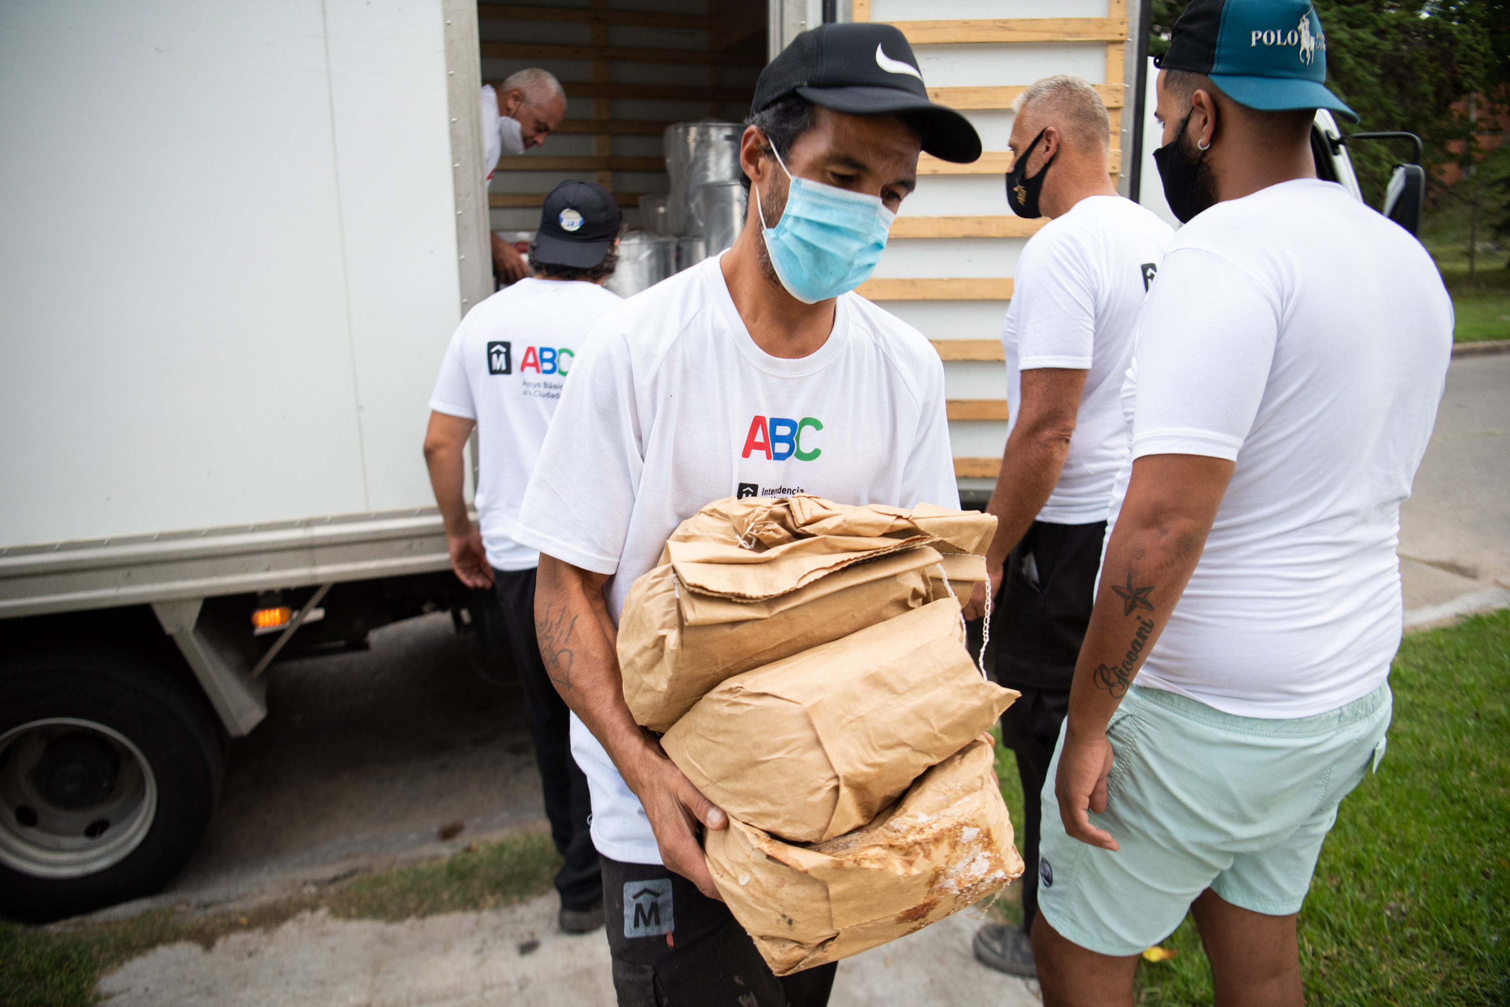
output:
[[[1385,755],[1400,504],[1453,309],[1415,239],[1315,178],[1315,110],[1356,121],[1324,80],[1306,0],[1194,0],[1163,60],[1154,157],[1187,225],[1122,390],[1131,451],[1043,793],[1051,1007],[1131,1004],[1187,910],[1219,1004],[1300,1004],[1296,918]]]

